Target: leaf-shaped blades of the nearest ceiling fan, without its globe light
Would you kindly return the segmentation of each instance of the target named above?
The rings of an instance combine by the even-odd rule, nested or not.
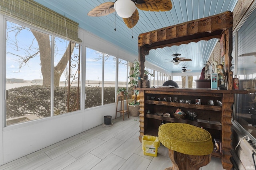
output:
[[[94,9],[92,9],[87,15],[88,16],[106,16],[108,14],[111,14],[115,12],[114,4],[117,2],[105,2],[103,4],[100,4],[99,6],[96,6]],[[170,11],[172,9],[172,2],[171,0],[131,0],[135,3],[136,7],[140,10],[144,11]],[[132,16],[129,18],[123,18],[124,23],[128,28],[132,28],[136,25],[136,23],[139,20],[139,12],[136,9]]]

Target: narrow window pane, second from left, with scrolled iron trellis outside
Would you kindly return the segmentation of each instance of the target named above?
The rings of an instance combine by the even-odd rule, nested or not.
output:
[[[54,115],[80,109],[80,51],[80,45],[54,38]]]

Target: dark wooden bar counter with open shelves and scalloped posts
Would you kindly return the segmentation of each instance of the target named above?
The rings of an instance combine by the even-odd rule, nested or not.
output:
[[[230,162],[231,147],[231,118],[234,94],[246,94],[244,90],[211,90],[190,88],[137,88],[140,96],[140,136],[158,136],[158,128],[161,123],[187,123],[206,129],[212,139],[222,142],[222,152],[212,152],[212,156],[221,158],[223,168],[231,169]],[[178,98],[178,102],[168,101],[169,97]],[[195,99],[201,99],[201,104],[195,104]],[[191,104],[180,103],[191,101]],[[214,106],[208,105],[208,100],[214,100]],[[186,115],[184,119],[173,116],[176,109],[185,113],[193,111],[196,113],[194,120],[189,120]],[[162,113],[170,113],[170,117],[163,117]]]

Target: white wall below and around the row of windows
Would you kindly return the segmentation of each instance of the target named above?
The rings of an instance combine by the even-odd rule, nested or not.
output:
[[[0,27],[3,28],[3,16],[0,14]],[[4,71],[4,38],[5,29],[1,29],[0,32],[0,63],[3,64],[0,70],[0,75],[5,75]],[[137,58],[135,55],[131,55],[118,49],[118,47],[106,42],[99,37],[96,37],[82,29],[79,29],[79,37],[83,43],[83,57],[85,57],[85,47],[88,46],[98,51],[104,51],[110,55],[116,57],[122,57],[128,61],[134,61]],[[82,59],[82,63],[85,60]],[[82,74],[84,74],[85,64],[82,64]],[[82,76],[84,78],[84,76]],[[0,80],[0,96],[3,96],[5,92],[5,77],[2,76]],[[82,87],[85,85],[85,80],[82,80]],[[84,94],[84,88],[82,94]],[[40,150],[44,147],[62,141],[68,137],[72,137],[78,133],[86,131],[97,125],[102,125],[105,115],[111,115],[112,119],[116,115],[116,104],[108,104],[106,106],[99,106],[95,108],[84,110],[84,95],[81,96],[82,110],[72,113],[66,113],[54,117],[47,117],[26,123],[20,123],[16,125],[10,125],[4,127],[4,115],[5,115],[5,101],[0,98],[0,165],[30,154],[36,150]],[[117,115],[119,117],[120,114]]]

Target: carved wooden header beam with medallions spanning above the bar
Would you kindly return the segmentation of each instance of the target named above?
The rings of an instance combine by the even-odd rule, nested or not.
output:
[[[188,44],[200,40],[220,38],[223,31],[233,26],[233,13],[223,12],[214,16],[164,27],[138,36],[138,46],[150,49]]]

